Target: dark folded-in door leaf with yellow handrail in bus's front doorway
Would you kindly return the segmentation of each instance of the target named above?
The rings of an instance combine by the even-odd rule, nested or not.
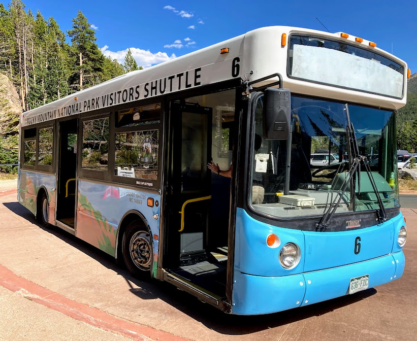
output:
[[[212,109],[173,103],[171,115],[174,122],[172,211],[177,218],[171,220],[170,230],[179,232],[181,262],[196,262],[206,257]]]

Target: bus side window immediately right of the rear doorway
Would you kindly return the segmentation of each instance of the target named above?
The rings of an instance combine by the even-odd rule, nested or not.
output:
[[[107,170],[109,161],[109,118],[82,122],[82,169]]]

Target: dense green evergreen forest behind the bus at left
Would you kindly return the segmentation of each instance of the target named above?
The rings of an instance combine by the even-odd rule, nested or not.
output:
[[[21,0],[0,3],[0,73],[16,87],[23,111],[34,109],[126,72],[140,70],[132,52],[124,64],[103,55],[81,11],[63,32],[53,17],[26,10]],[[0,86],[0,92],[7,91]],[[0,164],[17,163],[18,117],[0,97]],[[16,171],[16,167],[1,167]]]

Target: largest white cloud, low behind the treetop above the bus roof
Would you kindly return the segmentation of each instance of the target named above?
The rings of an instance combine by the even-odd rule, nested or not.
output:
[[[142,49],[138,49],[136,47],[131,47],[130,49],[131,49],[132,55],[135,58],[136,63],[138,64],[138,66],[142,66],[144,69],[146,69],[146,67],[149,67],[149,66],[152,66],[152,65],[155,65],[155,64],[159,64],[159,63],[162,63],[164,61],[174,59],[174,58],[177,57],[174,53],[171,54],[171,56],[169,56],[166,52],[152,53],[149,50],[142,50]],[[113,51],[109,50],[108,45],[105,45],[104,47],[100,48],[100,50],[102,51],[102,53],[106,57],[110,57],[112,59],[117,59],[117,61],[120,64],[124,64],[124,57],[127,53],[127,50],[129,50],[129,49],[113,52]]]

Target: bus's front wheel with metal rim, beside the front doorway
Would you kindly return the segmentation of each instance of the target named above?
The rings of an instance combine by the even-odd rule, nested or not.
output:
[[[150,277],[153,250],[150,235],[138,221],[131,222],[123,234],[123,260],[127,270],[137,277]]]

